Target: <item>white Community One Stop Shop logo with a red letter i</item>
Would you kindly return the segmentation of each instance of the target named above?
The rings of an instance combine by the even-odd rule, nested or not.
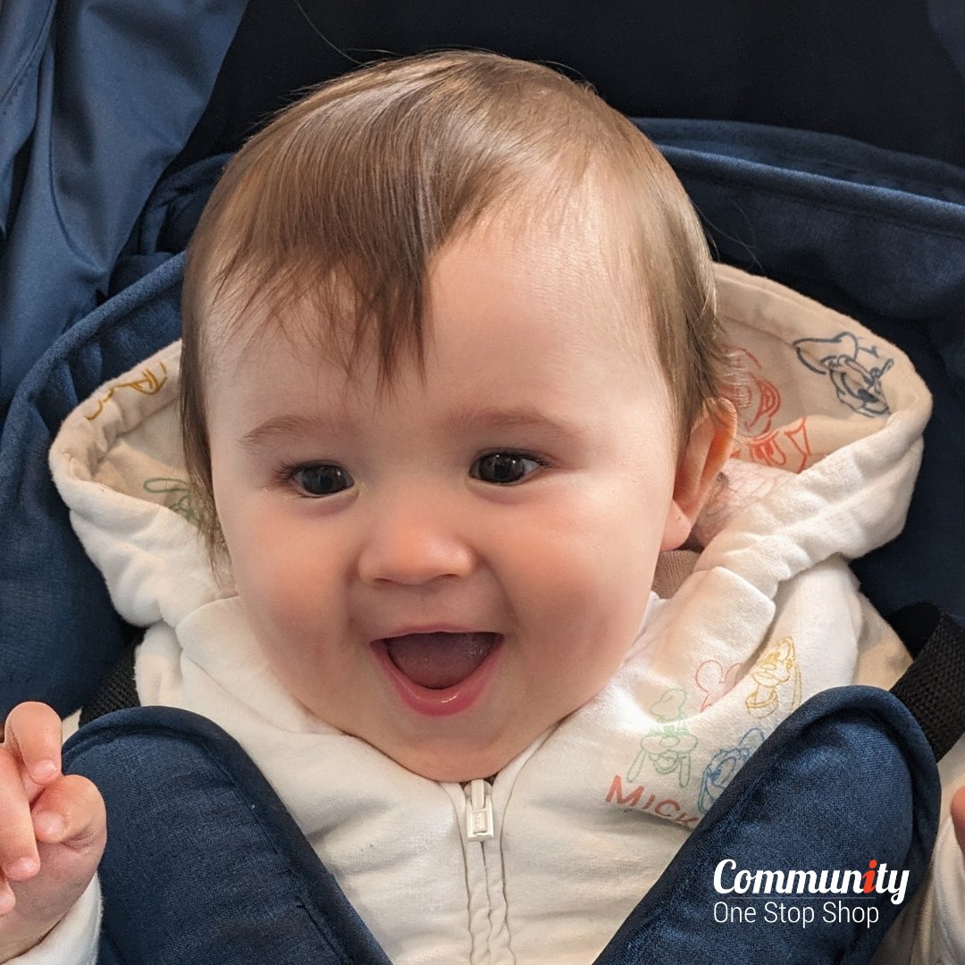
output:
[[[750,870],[732,858],[714,869],[717,924],[864,924],[878,921],[877,896],[900,904],[908,871],[872,858],[867,869]],[[834,897],[830,897],[834,896]]]

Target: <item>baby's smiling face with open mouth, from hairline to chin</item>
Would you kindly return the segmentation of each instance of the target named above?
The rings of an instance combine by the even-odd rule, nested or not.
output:
[[[601,274],[497,223],[435,262],[424,380],[402,359],[380,393],[285,339],[217,360],[215,504],[260,645],[428,778],[494,774],[593,698],[687,535],[665,380]]]

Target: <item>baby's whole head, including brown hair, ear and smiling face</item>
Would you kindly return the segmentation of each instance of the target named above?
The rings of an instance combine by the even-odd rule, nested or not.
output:
[[[590,700],[730,450],[700,225],[549,69],[336,80],[234,158],[181,370],[212,553],[292,694],[440,780]]]

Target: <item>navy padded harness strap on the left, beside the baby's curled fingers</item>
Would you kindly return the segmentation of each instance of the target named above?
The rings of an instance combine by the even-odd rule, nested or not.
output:
[[[107,804],[100,965],[389,965],[261,772],[210,721],[119,711],[77,731],[64,760]]]

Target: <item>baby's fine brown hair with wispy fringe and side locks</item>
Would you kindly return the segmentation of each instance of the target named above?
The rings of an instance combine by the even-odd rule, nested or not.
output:
[[[346,74],[248,141],[215,187],[184,271],[181,426],[209,547],[219,537],[206,376],[212,348],[245,328],[253,305],[272,309],[272,326],[249,324],[249,341],[313,335],[347,371],[374,345],[391,381],[403,352],[422,363],[433,254],[487,213],[544,219],[574,195],[620,212],[627,236],[607,240],[639,279],[638,327],[668,375],[683,439],[713,410],[728,370],[706,242],[667,162],[589,87],[495,54],[444,52]],[[298,320],[306,313],[285,311],[302,299],[325,319],[314,333]]]

